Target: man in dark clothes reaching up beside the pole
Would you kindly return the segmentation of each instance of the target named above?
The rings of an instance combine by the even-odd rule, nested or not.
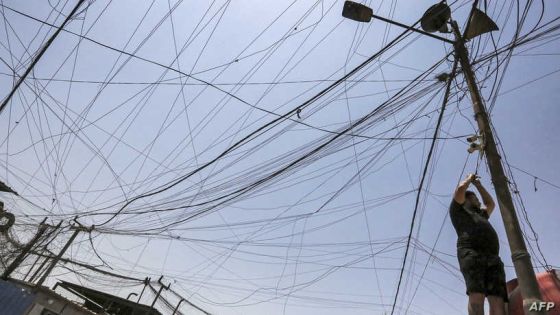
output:
[[[474,192],[467,190],[470,184],[482,196],[484,206]],[[469,315],[484,315],[485,297],[490,304],[490,315],[505,315],[504,264],[498,256],[498,235],[488,222],[494,207],[492,197],[474,174],[459,184],[449,207],[458,237],[457,258],[469,296]]]

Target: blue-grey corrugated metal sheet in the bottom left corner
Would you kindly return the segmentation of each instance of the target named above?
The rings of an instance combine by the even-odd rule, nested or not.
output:
[[[35,300],[35,294],[0,280],[0,315],[23,315]]]

